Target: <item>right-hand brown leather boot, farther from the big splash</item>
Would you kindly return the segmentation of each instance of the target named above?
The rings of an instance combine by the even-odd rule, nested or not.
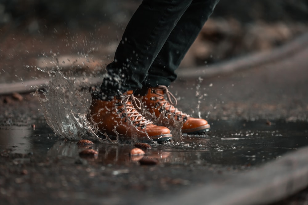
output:
[[[140,100],[145,110],[152,114],[152,117],[148,117],[148,119],[156,122],[158,125],[164,126],[165,121],[155,120],[153,117],[161,118],[161,113],[164,113],[165,118],[171,119],[174,116],[176,120],[183,120],[182,133],[201,134],[210,129],[210,125],[206,120],[190,117],[188,114],[175,108],[174,105],[177,104],[176,98],[168,91],[166,86],[160,85],[155,88],[149,88],[148,93],[141,96]]]

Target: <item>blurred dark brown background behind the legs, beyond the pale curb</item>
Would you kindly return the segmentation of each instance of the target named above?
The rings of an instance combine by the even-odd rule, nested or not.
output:
[[[39,57],[90,56],[103,67],[140,2],[0,0],[0,82],[41,75],[31,69]],[[181,68],[273,49],[305,33],[307,22],[308,0],[221,0]]]

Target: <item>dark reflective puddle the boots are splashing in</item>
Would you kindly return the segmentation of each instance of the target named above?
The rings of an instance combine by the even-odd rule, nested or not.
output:
[[[59,156],[79,159],[79,152],[92,148],[99,155],[87,158],[89,163],[121,164],[130,166],[140,159],[130,157],[133,144],[77,145],[77,142],[59,140],[47,124],[2,124],[0,150],[15,153],[33,153],[36,158]],[[202,136],[183,136],[181,141],[152,144],[145,157],[156,158],[160,164],[220,165],[246,168],[259,165],[284,153],[308,145],[308,123],[266,121],[215,121],[212,129]]]

